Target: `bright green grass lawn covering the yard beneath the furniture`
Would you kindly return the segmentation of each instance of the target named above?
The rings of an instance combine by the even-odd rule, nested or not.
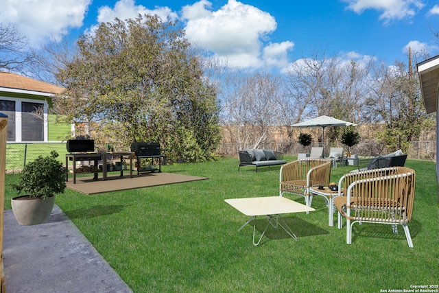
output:
[[[287,161],[295,158],[287,156]],[[248,218],[224,199],[278,195],[279,166],[241,167],[237,158],[162,166],[163,172],[209,180],[85,196],[69,189],[56,204],[134,292],[383,292],[439,284],[439,209],[435,163],[407,160],[416,170],[410,232],[390,225],[328,226],[327,207],[285,215],[298,236],[269,229],[259,246]],[[332,181],[352,167],[332,169]],[[6,177],[6,209],[14,195]],[[303,202],[303,198],[295,198]],[[257,222],[258,226],[263,223]]]

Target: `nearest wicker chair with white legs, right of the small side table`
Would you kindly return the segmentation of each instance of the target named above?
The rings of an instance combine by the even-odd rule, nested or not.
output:
[[[404,228],[408,245],[413,247],[407,223],[412,219],[415,172],[407,167],[388,167],[346,174],[339,185],[345,196],[335,198],[338,210],[338,228],[342,216],[346,218],[346,243],[352,243],[352,226],[355,223],[391,224]]]

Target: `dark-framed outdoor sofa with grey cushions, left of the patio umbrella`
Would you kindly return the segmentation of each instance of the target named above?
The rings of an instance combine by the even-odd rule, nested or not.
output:
[[[240,150],[239,155],[239,168],[242,166],[256,167],[256,172],[258,172],[258,167],[272,166],[272,165],[283,165],[287,161],[283,160],[282,152],[275,152],[274,150],[258,150],[258,149],[248,149]]]

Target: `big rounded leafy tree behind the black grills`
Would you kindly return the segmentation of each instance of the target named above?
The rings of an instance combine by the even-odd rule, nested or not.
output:
[[[205,161],[220,141],[217,87],[178,23],[158,16],[101,23],[58,69],[69,119],[97,141],[159,141],[171,161]]]

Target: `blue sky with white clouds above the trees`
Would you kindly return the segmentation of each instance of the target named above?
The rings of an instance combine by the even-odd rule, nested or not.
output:
[[[187,38],[247,69],[287,69],[313,52],[389,65],[405,50],[439,54],[439,1],[427,0],[0,0],[0,21],[14,23],[34,47],[76,39],[102,21],[141,13],[182,21]],[[421,60],[418,60],[421,61]]]

